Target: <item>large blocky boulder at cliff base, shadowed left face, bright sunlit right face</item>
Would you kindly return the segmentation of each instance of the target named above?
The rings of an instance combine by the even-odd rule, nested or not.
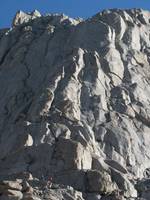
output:
[[[56,168],[59,171],[91,169],[91,154],[80,143],[60,138],[55,148],[56,154],[54,157],[57,162]]]

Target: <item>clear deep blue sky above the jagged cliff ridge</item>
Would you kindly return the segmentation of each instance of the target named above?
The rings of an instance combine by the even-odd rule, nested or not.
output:
[[[0,28],[9,27],[17,10],[65,13],[71,17],[90,17],[106,8],[144,8],[150,0],[0,0]]]

